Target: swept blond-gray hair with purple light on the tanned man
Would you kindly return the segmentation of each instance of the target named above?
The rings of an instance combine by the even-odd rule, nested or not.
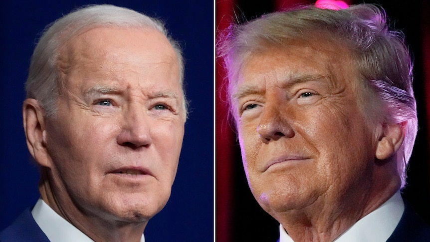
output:
[[[406,167],[418,132],[417,107],[412,89],[412,61],[401,32],[388,27],[383,9],[359,4],[347,9],[329,10],[304,6],[274,12],[244,24],[232,24],[217,42],[218,56],[227,71],[230,112],[237,119],[233,91],[237,75],[249,56],[268,46],[282,48],[289,39],[305,40],[315,32],[349,47],[357,66],[362,90],[370,90],[386,112],[384,122],[406,122],[405,140],[399,149],[398,172],[406,185]],[[369,93],[364,93],[369,95]],[[364,99],[363,97],[360,99]],[[363,100],[359,100],[364,105]],[[367,107],[368,108],[368,107]],[[378,108],[378,107],[373,107]],[[366,110],[366,107],[363,107]]]

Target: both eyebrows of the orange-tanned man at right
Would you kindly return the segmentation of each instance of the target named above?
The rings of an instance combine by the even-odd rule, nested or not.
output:
[[[326,77],[324,75],[313,75],[313,74],[287,74],[281,79],[282,87],[290,87],[295,84],[305,83],[309,81],[324,80]],[[243,85],[240,86],[237,91],[234,92],[232,98],[239,100],[247,95],[258,94],[263,95],[265,89],[259,88],[257,85]]]

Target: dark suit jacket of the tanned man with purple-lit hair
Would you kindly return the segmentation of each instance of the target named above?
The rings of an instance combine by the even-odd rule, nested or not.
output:
[[[405,211],[387,242],[430,242],[430,226],[417,215],[407,201],[404,202]]]

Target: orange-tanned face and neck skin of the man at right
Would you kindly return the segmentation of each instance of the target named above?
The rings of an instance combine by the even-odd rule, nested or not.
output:
[[[382,124],[374,117],[374,125],[364,121],[370,114],[357,102],[363,89],[351,54],[342,45],[310,42],[249,57],[232,98],[239,113],[244,110],[236,117],[238,137],[257,202],[293,240],[333,241],[391,197],[399,180],[395,162],[374,163]],[[319,78],[285,85],[285,73]],[[314,95],[298,102],[302,88]],[[252,103],[257,105],[244,109]],[[309,159],[261,172],[282,151]]]

